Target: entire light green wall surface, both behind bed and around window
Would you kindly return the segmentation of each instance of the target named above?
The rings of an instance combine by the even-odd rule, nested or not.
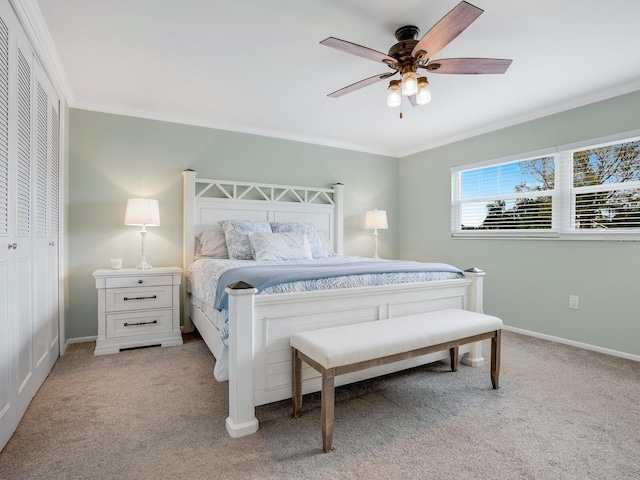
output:
[[[640,242],[463,240],[450,236],[450,168],[640,128],[640,92],[435,148],[400,160],[273,138],[69,112],[66,337],[97,333],[91,272],[109,258],[139,260],[140,235],[123,225],[126,199],[160,201],[148,259],[181,263],[181,175],[263,183],[346,185],[345,250],[371,255],[364,212],[384,208],[386,258],[478,266],[485,311],[507,325],[640,355]],[[569,310],[569,295],[580,309]]]

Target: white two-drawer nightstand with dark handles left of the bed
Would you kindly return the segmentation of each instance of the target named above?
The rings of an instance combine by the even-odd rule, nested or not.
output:
[[[182,345],[178,267],[96,270],[98,338],[94,355],[122,348]]]

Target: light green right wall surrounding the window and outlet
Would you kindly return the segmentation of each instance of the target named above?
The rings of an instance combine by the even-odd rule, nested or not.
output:
[[[509,326],[640,355],[640,242],[452,239],[449,208],[451,167],[639,129],[638,112],[634,92],[402,158],[400,257],[485,270]]]

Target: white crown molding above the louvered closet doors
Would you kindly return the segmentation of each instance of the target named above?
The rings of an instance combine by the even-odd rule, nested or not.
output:
[[[56,93],[64,98],[68,105],[73,105],[76,97],[38,2],[36,0],[9,0],[9,2],[31,42],[38,61],[49,75]]]

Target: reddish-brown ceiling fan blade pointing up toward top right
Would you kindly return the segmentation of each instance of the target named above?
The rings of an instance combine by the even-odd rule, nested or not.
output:
[[[481,8],[467,2],[460,2],[424,34],[413,48],[411,55],[418,60],[433,57],[471,25],[482,12],[484,10]]]

